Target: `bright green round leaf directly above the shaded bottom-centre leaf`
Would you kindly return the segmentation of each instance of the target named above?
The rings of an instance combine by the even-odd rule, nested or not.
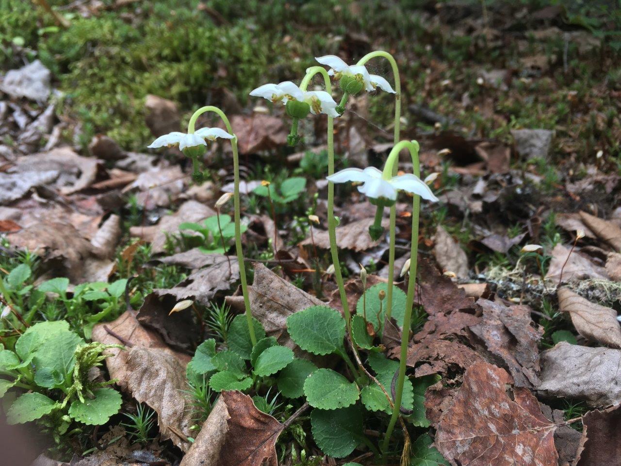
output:
[[[313,408],[337,409],[356,403],[360,391],[355,383],[332,369],[317,369],[304,381],[304,395]]]

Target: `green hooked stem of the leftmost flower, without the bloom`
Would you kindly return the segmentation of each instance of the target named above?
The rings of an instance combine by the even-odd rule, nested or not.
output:
[[[222,110],[214,106],[206,106],[199,108],[194,112],[188,123],[188,134],[194,133],[194,125],[198,117],[205,112],[214,112],[219,116],[224,125],[227,127],[227,132],[233,134],[233,129],[229,122],[229,119]],[[235,134],[233,134],[235,135]],[[239,278],[242,282],[242,295],[243,306],[246,311],[246,320],[248,322],[248,332],[250,333],[250,341],[252,345],[256,345],[255,327],[252,323],[252,311],[250,311],[250,298],[248,298],[248,282],[246,280],[246,266],[243,260],[242,250],[242,227],[241,227],[241,214],[240,214],[240,196],[239,196],[239,155],[237,153],[237,136],[233,137],[231,141],[231,148],[233,150],[233,181],[235,189],[233,191],[233,204],[235,206],[235,249],[237,251],[237,262],[239,264]]]

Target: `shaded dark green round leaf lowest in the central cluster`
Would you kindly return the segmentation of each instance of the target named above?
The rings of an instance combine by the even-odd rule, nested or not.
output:
[[[330,411],[313,409],[311,427],[312,436],[322,452],[343,458],[361,442],[362,412],[358,405]]]

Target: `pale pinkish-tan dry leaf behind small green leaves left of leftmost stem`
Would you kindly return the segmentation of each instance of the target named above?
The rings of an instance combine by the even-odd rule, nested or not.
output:
[[[213,215],[215,215],[215,211],[206,205],[196,201],[186,201],[174,214],[162,217],[157,225],[131,227],[129,232],[132,236],[151,242],[153,254],[160,254],[165,250],[167,235],[178,235],[179,225],[183,222],[198,223]]]

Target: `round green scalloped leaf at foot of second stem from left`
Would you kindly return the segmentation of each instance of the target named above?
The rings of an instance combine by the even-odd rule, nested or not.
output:
[[[287,318],[289,336],[301,349],[324,355],[343,347],[345,319],[327,306],[310,308]]]

